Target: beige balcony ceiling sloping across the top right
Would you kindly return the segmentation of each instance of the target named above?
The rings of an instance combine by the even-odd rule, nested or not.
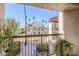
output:
[[[25,5],[49,9],[49,10],[57,10],[57,11],[67,11],[78,9],[79,4],[72,3],[25,3]]]

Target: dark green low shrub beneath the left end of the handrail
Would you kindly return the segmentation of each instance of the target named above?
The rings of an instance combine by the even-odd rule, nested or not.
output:
[[[16,56],[20,53],[20,42],[13,43],[9,48],[5,51],[7,56]]]

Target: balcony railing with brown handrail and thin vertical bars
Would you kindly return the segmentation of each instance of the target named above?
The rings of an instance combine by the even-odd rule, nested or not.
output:
[[[36,56],[36,47],[38,44],[48,44],[50,36],[53,40],[58,40],[59,38],[61,38],[61,35],[62,34],[16,35],[12,36],[12,39],[14,42],[21,42],[20,53],[18,55]]]

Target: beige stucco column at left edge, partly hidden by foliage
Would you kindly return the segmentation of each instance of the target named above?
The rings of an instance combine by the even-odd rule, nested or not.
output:
[[[3,36],[3,20],[4,20],[4,16],[5,16],[5,4],[4,3],[0,3],[0,35]],[[3,43],[2,43],[3,44]],[[0,55],[5,56],[5,52],[3,51],[3,48],[1,49],[1,53]]]

